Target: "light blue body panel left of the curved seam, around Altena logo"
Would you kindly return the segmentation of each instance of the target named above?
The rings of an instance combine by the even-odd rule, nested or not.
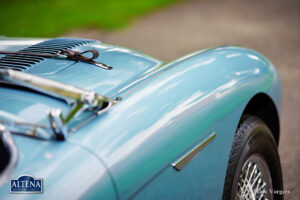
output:
[[[42,194],[10,194],[9,181],[1,199],[115,199],[106,168],[89,151],[68,142],[41,141],[14,135],[18,164],[11,178],[29,174],[43,178]]]

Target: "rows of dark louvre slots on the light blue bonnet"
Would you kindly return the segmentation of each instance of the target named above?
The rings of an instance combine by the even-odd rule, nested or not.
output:
[[[95,40],[56,38],[32,45],[18,52],[57,53],[62,50],[72,49],[81,45],[95,43]],[[0,58],[0,69],[14,69],[25,71],[33,65],[44,61],[45,58],[32,55],[5,55]]]

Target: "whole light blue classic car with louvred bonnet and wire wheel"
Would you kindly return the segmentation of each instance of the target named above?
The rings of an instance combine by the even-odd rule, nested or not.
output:
[[[0,40],[1,199],[281,199],[281,86],[221,46],[170,63],[74,38]]]

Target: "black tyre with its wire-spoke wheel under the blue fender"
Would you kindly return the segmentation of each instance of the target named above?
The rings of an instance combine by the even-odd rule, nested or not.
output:
[[[223,199],[283,199],[278,194],[282,190],[281,165],[270,129],[258,117],[243,116],[231,148]]]

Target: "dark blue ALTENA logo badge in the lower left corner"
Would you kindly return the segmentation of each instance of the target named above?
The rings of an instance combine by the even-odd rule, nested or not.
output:
[[[30,175],[10,180],[10,193],[43,193],[43,179]]]

